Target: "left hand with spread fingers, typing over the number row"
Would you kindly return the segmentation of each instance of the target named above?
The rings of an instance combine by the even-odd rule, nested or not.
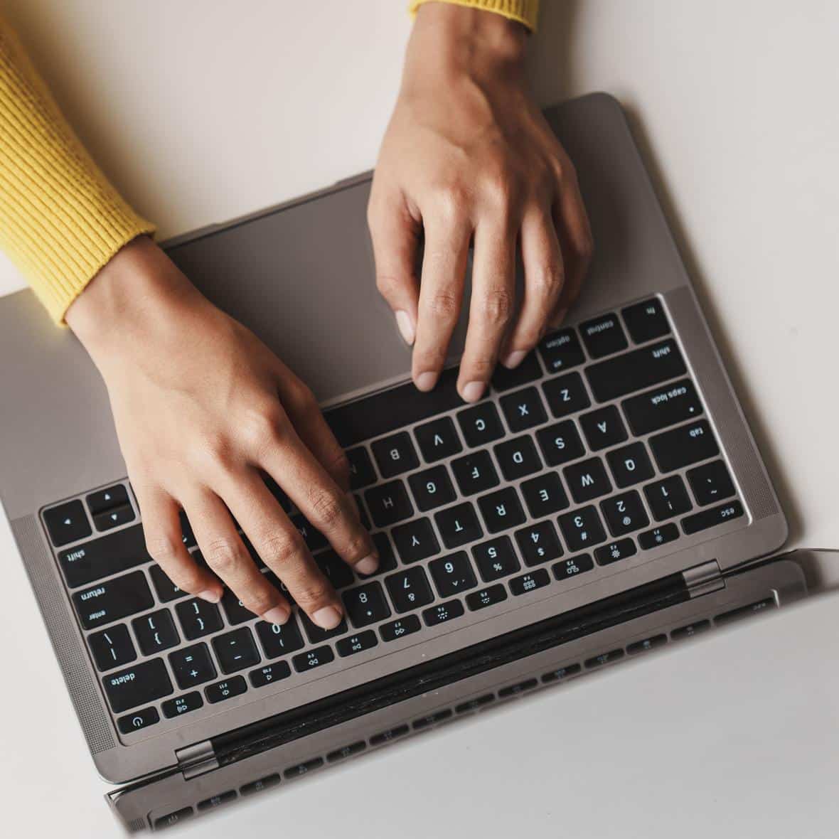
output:
[[[349,565],[376,570],[347,457],[309,388],[147,237],[102,268],[66,321],[105,379],[146,547],[171,581],[210,602],[223,582],[254,614],[285,623],[289,602],[235,519],[312,621],[336,627],[341,598],[263,481],[274,478]],[[217,577],[186,550],[181,509]]]

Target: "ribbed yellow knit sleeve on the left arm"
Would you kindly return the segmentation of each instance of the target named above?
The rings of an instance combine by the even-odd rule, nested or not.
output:
[[[99,269],[150,232],[86,153],[0,18],[0,248],[60,323]]]

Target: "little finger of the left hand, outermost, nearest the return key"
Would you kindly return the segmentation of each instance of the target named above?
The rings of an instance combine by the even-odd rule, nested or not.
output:
[[[143,534],[149,556],[157,562],[175,586],[201,600],[221,600],[221,583],[201,568],[186,550],[180,527],[180,506],[166,492],[156,487],[132,484],[143,516]]]

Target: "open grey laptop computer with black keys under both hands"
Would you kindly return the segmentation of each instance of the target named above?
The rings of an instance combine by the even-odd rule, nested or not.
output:
[[[454,367],[432,393],[409,381],[373,284],[370,175],[165,245],[347,449],[379,571],[354,576],[290,511],[347,607],[334,631],[175,588],[144,550],[96,369],[31,292],[0,300],[0,498],[130,831],[804,596],[621,107],[592,94],[547,117],[597,253],[568,325],[475,405]]]

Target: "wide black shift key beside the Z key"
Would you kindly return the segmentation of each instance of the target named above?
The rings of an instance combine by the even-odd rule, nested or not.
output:
[[[586,367],[586,378],[598,402],[611,402],[684,374],[685,362],[672,338]]]

